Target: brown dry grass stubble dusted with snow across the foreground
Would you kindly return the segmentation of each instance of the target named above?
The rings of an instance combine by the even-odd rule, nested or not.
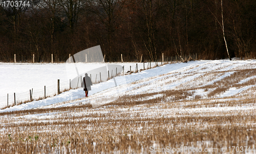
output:
[[[190,89],[183,84],[179,90],[124,95],[98,108],[86,104],[0,113],[0,152],[149,153],[151,146],[253,147],[255,87],[247,90],[250,95],[227,100],[211,96],[229,87],[252,85],[254,80],[237,83],[254,75],[253,69],[236,71],[212,85],[198,82]],[[195,94],[198,89],[207,89],[208,98]]]

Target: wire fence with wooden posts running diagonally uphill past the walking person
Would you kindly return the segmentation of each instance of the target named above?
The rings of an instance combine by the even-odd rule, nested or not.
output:
[[[166,62],[178,62],[185,60],[197,60],[197,55],[193,56],[183,56],[183,57],[164,57],[162,59],[158,59],[157,61],[142,61],[141,63],[136,63],[136,65],[130,65],[130,67],[121,66],[116,67],[114,64],[113,67],[109,67],[108,72],[104,72],[100,70],[88,72],[90,75],[92,83],[99,83],[106,80],[109,80],[118,75],[126,75],[134,72],[139,72],[146,69],[151,69],[159,65],[163,65]],[[61,92],[65,92],[70,89],[77,89],[81,87],[81,82],[83,75],[79,75],[73,80],[69,81],[58,81],[57,84],[51,86],[41,87],[40,89],[31,89],[24,93],[13,93],[7,94],[6,96],[0,96],[1,108],[19,105],[22,103],[30,102],[33,100],[41,100],[47,97],[55,96]]]

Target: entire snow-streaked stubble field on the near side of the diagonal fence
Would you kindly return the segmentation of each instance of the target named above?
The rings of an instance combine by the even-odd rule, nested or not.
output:
[[[80,88],[2,109],[0,146],[46,153],[247,146],[244,153],[256,153],[256,60],[172,63],[114,79],[94,84],[88,98]]]

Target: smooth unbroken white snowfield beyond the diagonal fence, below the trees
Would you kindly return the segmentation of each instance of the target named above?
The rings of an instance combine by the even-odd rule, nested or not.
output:
[[[80,73],[85,70],[93,70],[109,63],[77,63],[76,67]],[[136,63],[112,63],[124,66],[124,72],[135,71]],[[151,67],[156,64],[151,63]],[[138,63],[138,69],[150,67],[148,63]],[[89,68],[89,69],[85,69]],[[72,68],[74,71],[75,69]],[[9,105],[16,101],[27,101],[30,99],[30,90],[33,89],[34,97],[43,97],[46,86],[46,96],[57,93],[57,80],[60,80],[60,89],[68,89],[70,79],[76,76],[76,72],[70,72],[69,64],[66,63],[0,63],[0,108],[7,105],[7,94]],[[72,74],[71,74],[72,73]],[[98,77],[99,78],[99,77]],[[80,97],[74,97],[80,98]],[[73,98],[72,98],[73,99]]]

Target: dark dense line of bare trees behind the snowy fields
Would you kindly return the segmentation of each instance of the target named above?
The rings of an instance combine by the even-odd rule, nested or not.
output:
[[[37,0],[0,8],[0,57],[65,61],[101,46],[110,61],[254,58],[254,0]],[[28,1],[27,1],[28,2]],[[229,56],[228,56],[229,55]],[[61,59],[62,58],[62,59]]]

